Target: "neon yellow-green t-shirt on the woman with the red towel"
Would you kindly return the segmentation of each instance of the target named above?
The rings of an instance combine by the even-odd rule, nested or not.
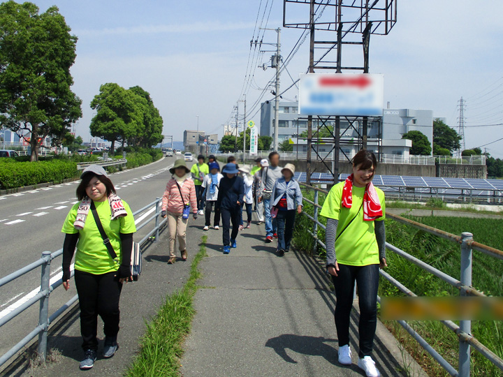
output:
[[[336,235],[339,238],[335,241],[337,263],[351,266],[379,264],[379,247],[377,246],[374,233],[374,221],[363,221],[363,207],[361,205],[365,187],[353,186],[353,203],[351,208],[341,208],[342,188],[344,188],[344,182],[340,182],[332,187],[320,212],[321,216],[339,221]],[[375,221],[381,221],[386,216],[384,192],[377,187],[376,191],[381,202],[383,215]],[[355,215],[356,218],[351,221]],[[351,223],[348,226],[350,221]],[[344,230],[344,228],[346,229]],[[342,235],[340,235],[340,232],[342,232]]]

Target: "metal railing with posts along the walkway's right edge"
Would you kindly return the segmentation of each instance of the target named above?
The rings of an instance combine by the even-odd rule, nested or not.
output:
[[[325,229],[326,227],[318,220],[319,209],[321,206],[318,204],[319,202],[319,193],[328,194],[328,191],[323,190],[321,188],[308,186],[307,184],[300,185],[307,190],[314,191],[314,200],[309,200],[303,198],[303,201],[309,203],[313,206],[314,212],[313,216],[307,214],[306,212],[302,212],[304,216],[306,216],[309,220],[313,222],[313,230],[307,230],[309,235],[312,235],[314,239],[313,251],[316,252],[317,245],[321,246],[323,249],[326,249],[326,245],[318,238],[318,227]],[[449,232],[444,232],[444,230],[439,230],[437,228],[432,228],[430,226],[425,226],[424,224],[418,223],[416,221],[412,221],[409,219],[405,219],[401,216],[386,214],[386,217],[398,221],[400,223],[407,224],[407,226],[413,226],[414,228],[418,228],[423,230],[424,232],[428,232],[432,235],[436,235],[438,237],[442,237],[444,239],[448,239],[451,242],[455,242],[455,244],[460,245],[461,251],[461,268],[460,268],[460,280],[453,278],[449,274],[445,274],[439,269],[428,265],[428,263],[423,262],[422,260],[411,256],[409,253],[398,249],[398,247],[393,246],[386,242],[386,249],[393,251],[398,254],[402,258],[405,258],[410,263],[424,269],[426,272],[437,276],[437,278],[442,279],[446,283],[449,283],[451,286],[458,288],[460,291],[460,295],[462,296],[479,296],[485,297],[485,295],[472,287],[472,251],[480,251],[481,253],[485,253],[488,256],[492,256],[494,258],[498,258],[503,260],[503,251],[495,249],[493,247],[480,244],[479,242],[475,242],[473,240],[472,233],[463,232],[460,236],[453,235]],[[406,286],[404,286],[400,281],[396,280],[388,274],[384,272],[382,269],[379,270],[379,274],[384,277],[387,281],[389,281],[393,286],[401,290],[403,293],[409,296],[416,297],[416,294],[409,290]],[[377,300],[381,302],[381,297],[377,296]],[[406,321],[398,320],[397,321],[404,329],[413,337],[423,349],[428,352],[439,364],[442,368],[444,368],[447,373],[451,376],[456,377],[469,377],[470,376],[470,348],[473,347],[477,350],[483,357],[492,362],[497,368],[503,371],[503,360],[498,357],[493,351],[489,350],[486,346],[484,346],[478,339],[470,334],[472,329],[472,321],[471,320],[460,320],[460,324],[456,325],[451,320],[440,320],[440,323],[445,325],[449,330],[454,332],[459,339],[459,355],[458,355],[458,371],[440,355],[435,348],[433,348],[428,341],[426,341],[423,337],[421,337],[413,327],[411,327]]]

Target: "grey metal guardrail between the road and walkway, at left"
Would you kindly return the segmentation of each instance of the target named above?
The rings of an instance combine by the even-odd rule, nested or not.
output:
[[[152,209],[154,207],[154,214],[150,216],[149,219],[146,219],[141,223],[140,226],[136,228],[136,230],[140,230],[144,226],[146,226],[148,223],[150,223],[152,220],[155,221],[154,229],[150,230],[150,232],[143,237],[140,242],[140,247],[147,242],[147,240],[154,235],[154,242],[159,241],[159,229],[166,223],[166,219],[163,219],[162,221],[159,221],[159,207],[161,204],[161,198],[156,198],[154,202],[151,202],[150,204],[146,205],[143,208],[138,209],[138,211],[133,212],[133,216],[136,216],[138,214],[141,214],[143,212],[146,212],[148,209]],[[4,276],[3,278],[0,279],[0,287],[4,286],[7,283],[10,283],[12,281],[15,281],[15,279],[20,278],[24,274],[27,274],[27,272],[33,271],[34,269],[41,267],[41,289],[40,291],[32,297],[30,300],[27,302],[24,302],[24,304],[20,305],[17,307],[15,310],[11,311],[8,313],[6,316],[3,318],[0,318],[0,327],[3,325],[6,325],[10,320],[18,316],[20,313],[23,311],[29,309],[30,306],[34,305],[36,302],[40,302],[40,308],[38,312],[38,326],[34,328],[29,334],[27,334],[26,337],[21,339],[13,348],[10,348],[6,353],[1,355],[0,357],[0,367],[5,364],[10,357],[13,357],[17,352],[19,352],[24,346],[27,346],[27,344],[31,341],[31,339],[34,339],[38,335],[38,357],[40,357],[42,360],[45,361],[45,357],[47,356],[47,341],[48,341],[48,330],[49,326],[54,323],[54,320],[56,320],[61,314],[63,314],[68,308],[72,306],[73,303],[75,303],[78,300],[78,295],[73,296],[66,304],[61,306],[57,311],[54,311],[49,316],[49,297],[50,294],[54,291],[54,289],[58,288],[59,286],[62,285],[63,281],[59,279],[58,281],[55,281],[54,283],[50,284],[50,264],[54,258],[57,258],[63,254],[63,249],[59,249],[58,251],[55,251],[54,253],[51,253],[50,251],[44,251],[42,253],[42,258],[36,260],[34,263],[30,263],[29,265],[22,267],[21,269],[18,269],[17,271],[8,274],[7,276]],[[74,272],[71,272],[71,276],[73,276]]]

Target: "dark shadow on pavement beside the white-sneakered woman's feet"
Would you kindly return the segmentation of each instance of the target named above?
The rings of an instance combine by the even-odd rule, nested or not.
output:
[[[270,338],[265,343],[265,346],[272,348],[283,360],[292,364],[296,364],[297,362],[286,353],[287,348],[303,355],[322,356],[330,364],[339,365],[337,362],[337,350],[333,346],[326,344],[333,341],[337,341],[337,339],[282,334],[279,337]]]

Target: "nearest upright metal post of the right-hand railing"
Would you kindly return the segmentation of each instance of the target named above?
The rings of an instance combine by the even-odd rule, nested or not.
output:
[[[461,274],[460,281],[466,286],[472,286],[472,247],[469,246],[468,242],[473,239],[472,233],[462,232],[461,233]],[[461,290],[462,296],[467,296],[467,293]],[[472,332],[472,321],[470,320],[460,320],[460,330],[471,334]],[[460,350],[459,350],[459,376],[469,377],[470,374],[470,346],[465,341],[460,339]]]

